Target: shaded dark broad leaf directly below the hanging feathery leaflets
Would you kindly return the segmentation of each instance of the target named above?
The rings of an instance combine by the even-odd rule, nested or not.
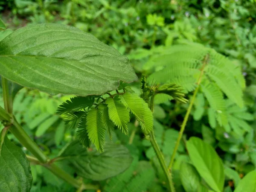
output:
[[[78,141],[68,144],[59,156],[70,160],[78,175],[91,180],[105,180],[122,173],[132,162],[132,157],[123,145],[106,143],[104,153],[87,151]]]

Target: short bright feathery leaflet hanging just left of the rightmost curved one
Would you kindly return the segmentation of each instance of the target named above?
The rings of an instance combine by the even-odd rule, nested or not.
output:
[[[108,105],[109,119],[111,119],[123,133],[128,134],[127,123],[130,121],[130,116],[125,105],[121,103],[118,96],[114,98],[109,97],[106,100],[106,104]]]

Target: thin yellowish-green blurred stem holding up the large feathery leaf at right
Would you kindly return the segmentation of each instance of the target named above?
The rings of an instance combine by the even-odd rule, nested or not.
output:
[[[171,161],[170,161],[169,166],[168,166],[168,169],[169,169],[170,172],[172,171],[172,166],[173,166],[173,163],[174,163],[175,154],[176,154],[176,152],[178,150],[178,147],[180,145],[180,140],[181,140],[181,138],[183,136],[183,132],[184,132],[185,127],[186,127],[186,123],[187,123],[187,121],[189,119],[189,115],[191,113],[191,109],[192,109],[193,104],[195,102],[195,96],[198,93],[198,90],[199,90],[199,87],[200,87],[199,85],[201,84],[202,77],[203,77],[203,74],[204,74],[204,67],[207,64],[208,59],[209,59],[209,55],[206,55],[205,58],[204,58],[204,61],[203,61],[203,66],[201,68],[200,76],[199,76],[198,81],[197,81],[197,87],[196,87],[196,89],[195,89],[195,91],[193,93],[192,99],[190,100],[190,103],[189,103],[189,108],[186,111],[186,115],[185,115],[185,117],[183,119],[183,122],[182,122],[182,125],[181,125],[181,128],[180,128],[180,132],[179,132],[179,136],[178,136],[178,139],[176,141],[175,148],[174,148],[174,151],[172,153]]]

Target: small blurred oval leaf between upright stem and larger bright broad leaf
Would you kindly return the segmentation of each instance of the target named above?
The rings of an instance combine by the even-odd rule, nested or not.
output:
[[[180,180],[186,192],[203,192],[207,189],[201,184],[201,177],[189,163],[181,163]]]

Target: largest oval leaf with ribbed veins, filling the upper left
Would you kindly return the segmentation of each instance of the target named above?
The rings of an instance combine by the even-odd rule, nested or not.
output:
[[[44,23],[0,42],[0,75],[50,94],[99,95],[136,81],[127,57],[75,27]]]

